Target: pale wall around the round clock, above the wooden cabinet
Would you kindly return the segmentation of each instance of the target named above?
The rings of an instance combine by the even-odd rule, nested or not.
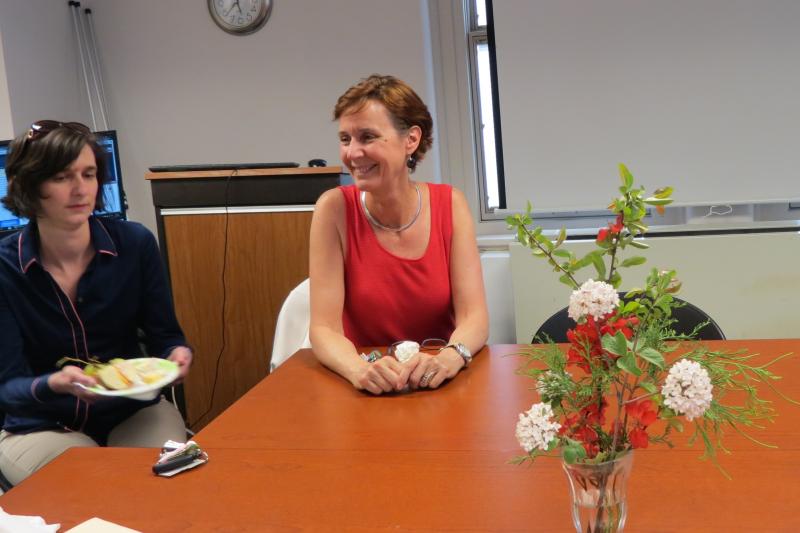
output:
[[[131,206],[154,225],[155,164],[338,164],[336,98],[391,73],[433,105],[424,1],[276,2],[249,36],[224,33],[197,0],[103,0],[93,12]],[[433,111],[433,110],[432,110]],[[430,178],[435,166],[418,170]]]

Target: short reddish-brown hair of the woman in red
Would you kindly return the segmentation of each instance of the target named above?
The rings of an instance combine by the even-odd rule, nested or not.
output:
[[[386,107],[398,131],[406,132],[412,126],[418,126],[422,130],[419,146],[411,154],[413,161],[409,167],[413,172],[417,162],[425,157],[425,153],[433,144],[433,119],[428,107],[404,81],[394,76],[373,74],[347,89],[339,97],[336,107],[333,108],[333,119],[339,120],[342,115],[357,113],[371,100],[380,102]]]

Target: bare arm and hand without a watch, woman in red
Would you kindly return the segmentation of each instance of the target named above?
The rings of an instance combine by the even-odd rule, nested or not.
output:
[[[320,363],[355,388],[373,394],[399,390],[405,386],[407,369],[391,357],[367,363],[344,336],[345,209],[342,193],[329,190],[317,201],[311,221],[311,345]]]

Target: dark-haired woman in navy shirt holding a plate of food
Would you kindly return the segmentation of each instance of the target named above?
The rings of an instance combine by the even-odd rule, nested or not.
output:
[[[3,204],[30,219],[0,241],[0,470],[12,483],[73,446],[160,447],[185,440],[180,413],[163,398],[101,397],[83,361],[148,352],[178,364],[192,353],[178,325],[153,235],[101,220],[105,154],[91,131],[39,121],[11,144]]]

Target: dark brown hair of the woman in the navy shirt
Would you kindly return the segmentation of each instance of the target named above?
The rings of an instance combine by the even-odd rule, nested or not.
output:
[[[107,164],[105,150],[97,138],[88,128],[83,132],[66,125],[38,138],[32,137],[32,131],[26,131],[9,146],[6,159],[8,190],[2,199],[3,205],[18,217],[35,219],[41,207],[42,184],[66,169],[78,158],[83,147],[89,146],[97,164],[95,210],[102,210]]]

